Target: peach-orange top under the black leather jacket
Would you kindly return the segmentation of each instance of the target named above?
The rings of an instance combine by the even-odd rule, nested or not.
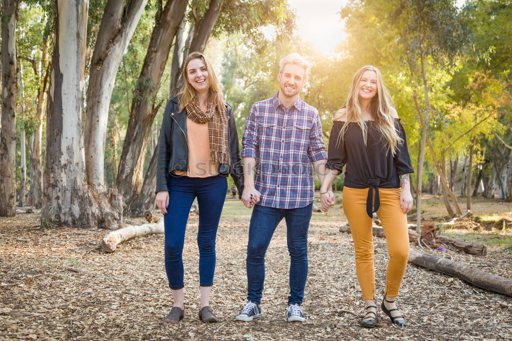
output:
[[[206,106],[200,106],[206,111]],[[188,174],[176,171],[178,175],[189,177],[208,177],[219,174],[217,163],[210,156],[210,134],[208,122],[195,123],[187,116],[187,142],[188,142]]]

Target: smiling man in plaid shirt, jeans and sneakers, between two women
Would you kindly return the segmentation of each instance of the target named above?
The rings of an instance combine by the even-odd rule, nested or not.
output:
[[[309,62],[298,54],[281,59],[279,92],[254,103],[246,121],[242,201],[246,207],[254,208],[246,260],[248,303],[237,316],[238,321],[252,321],[261,315],[265,253],[283,218],[290,254],[288,322],[305,320],[301,304],[308,273],[313,167],[322,182],[327,159],[318,110],[299,98],[309,67]]]

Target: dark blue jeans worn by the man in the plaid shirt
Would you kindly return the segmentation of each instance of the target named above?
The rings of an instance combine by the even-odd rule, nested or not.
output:
[[[265,281],[265,253],[275,228],[285,218],[286,240],[290,255],[288,304],[302,304],[308,277],[308,229],[312,204],[298,209],[254,206],[249,225],[246,259],[248,301],[260,304]]]

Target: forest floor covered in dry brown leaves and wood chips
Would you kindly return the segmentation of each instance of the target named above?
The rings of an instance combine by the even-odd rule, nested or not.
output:
[[[441,198],[425,196],[426,219],[439,220],[445,214],[442,205]],[[488,254],[454,254],[453,259],[512,278],[510,203],[476,199],[473,207],[472,218],[441,234],[485,243]],[[207,325],[197,317],[196,215],[190,216],[187,225],[186,315],[178,325],[161,323],[172,307],[163,264],[163,235],[132,239],[108,254],[102,251],[101,240],[109,231],[40,229],[37,213],[0,218],[0,339],[512,340],[512,298],[411,264],[399,297],[409,327],[391,325],[380,309],[377,328],[359,327],[357,315],[364,312],[364,302],[355,275],[351,236],[338,231],[340,224],[346,223],[339,204],[327,214],[313,213],[311,220],[303,304],[306,322],[286,322],[289,257],[283,223],[266,256],[263,314],[254,322],[235,322],[246,302],[250,212],[241,201],[226,200],[210,301],[220,322]],[[503,223],[487,223],[493,219],[503,219]],[[126,219],[127,224],[142,222]],[[380,303],[388,256],[386,240],[374,240]],[[433,253],[449,257],[440,251]],[[347,312],[338,315],[338,309]]]

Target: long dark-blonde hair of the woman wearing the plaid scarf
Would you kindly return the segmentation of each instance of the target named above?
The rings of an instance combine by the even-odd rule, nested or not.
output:
[[[226,106],[224,105],[224,97],[222,95],[222,85],[215,74],[214,67],[211,65],[211,62],[206,58],[202,53],[192,52],[190,53],[185,62],[183,63],[183,87],[181,92],[178,95],[178,102],[180,103],[180,112],[190,103],[194,97],[197,95],[196,89],[190,84],[187,77],[187,66],[191,60],[201,59],[206,66],[206,71],[208,71],[208,76],[210,78],[210,87],[208,88],[208,98],[207,101],[212,101],[214,105],[221,111],[226,111]]]

